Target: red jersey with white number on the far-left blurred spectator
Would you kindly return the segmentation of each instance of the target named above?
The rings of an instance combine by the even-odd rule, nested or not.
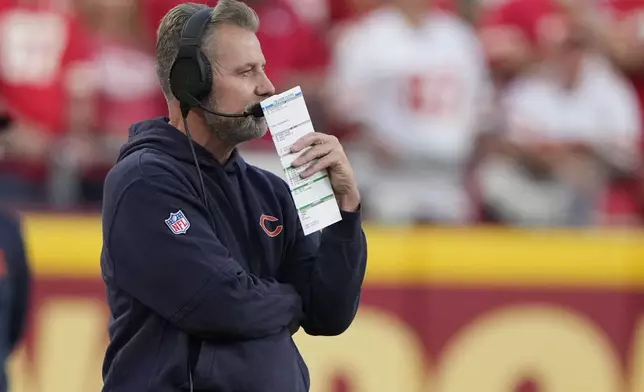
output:
[[[18,121],[66,130],[74,65],[87,60],[87,34],[71,15],[38,7],[0,9],[0,91]]]

